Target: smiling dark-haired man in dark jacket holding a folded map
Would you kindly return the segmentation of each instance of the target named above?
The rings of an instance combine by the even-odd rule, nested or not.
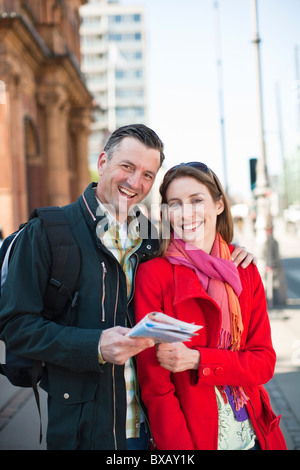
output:
[[[67,315],[58,322],[42,315],[51,261],[38,218],[16,244],[1,297],[0,334],[15,353],[46,364],[41,387],[48,393],[48,449],[149,446],[134,356],[153,342],[126,335],[134,322],[137,266],[158,244],[135,206],[163,159],[163,143],[151,129],[122,127],[99,156],[98,184],[64,207],[82,257],[71,325]],[[241,249],[236,254],[237,262],[245,258]]]

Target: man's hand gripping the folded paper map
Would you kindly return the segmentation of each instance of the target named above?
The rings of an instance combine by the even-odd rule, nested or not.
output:
[[[103,331],[99,348],[104,361],[123,365],[130,357],[154,346],[154,341],[149,338],[129,338],[126,336],[129,331],[122,326]]]

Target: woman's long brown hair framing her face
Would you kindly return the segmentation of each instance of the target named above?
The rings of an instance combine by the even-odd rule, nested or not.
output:
[[[216,230],[226,243],[230,243],[233,238],[233,220],[229,200],[217,175],[204,163],[181,163],[180,165],[176,165],[167,171],[159,189],[162,204],[159,256],[165,255],[170,243],[170,237],[165,236],[166,234],[170,233],[170,220],[168,211],[166,210],[166,192],[172,181],[174,181],[176,178],[184,176],[189,176],[204,184],[215,202],[223,199],[224,210],[217,217]]]

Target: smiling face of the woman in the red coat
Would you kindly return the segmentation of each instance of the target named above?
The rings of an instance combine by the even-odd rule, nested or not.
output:
[[[210,253],[217,216],[224,210],[223,199],[215,202],[208,188],[191,176],[174,179],[168,186],[166,199],[174,236]]]

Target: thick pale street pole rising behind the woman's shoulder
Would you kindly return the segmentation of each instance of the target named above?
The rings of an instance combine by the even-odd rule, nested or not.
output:
[[[258,10],[257,0],[252,0],[253,27],[255,48],[255,63],[257,77],[257,98],[258,98],[258,126],[260,154],[256,165],[256,188],[254,195],[256,198],[256,242],[258,268],[264,282],[268,304],[274,304],[274,291],[276,290],[276,302],[285,303],[285,282],[283,269],[279,259],[278,243],[273,237],[273,220],[270,207],[269,177],[266,160],[264,114],[262,99],[262,78],[261,78],[261,58],[260,42],[258,31]]]

